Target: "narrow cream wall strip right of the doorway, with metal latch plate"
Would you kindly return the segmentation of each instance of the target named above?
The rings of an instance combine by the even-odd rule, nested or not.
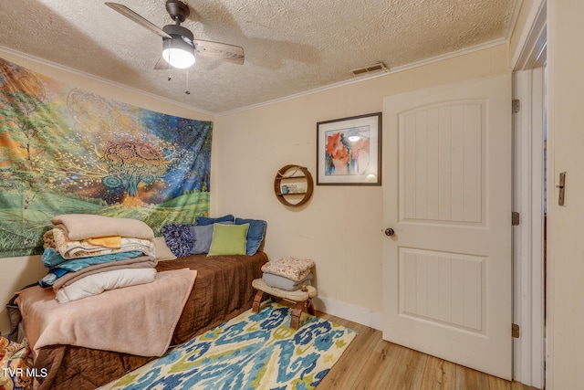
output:
[[[547,389],[584,384],[584,2],[547,0],[549,177]],[[567,172],[566,205],[558,176]]]

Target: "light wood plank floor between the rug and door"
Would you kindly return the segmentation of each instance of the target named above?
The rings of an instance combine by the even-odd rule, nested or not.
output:
[[[381,338],[381,332],[326,313],[318,317],[353,329],[359,334],[339,362],[317,386],[317,390],[535,390],[479,373],[413,351]]]

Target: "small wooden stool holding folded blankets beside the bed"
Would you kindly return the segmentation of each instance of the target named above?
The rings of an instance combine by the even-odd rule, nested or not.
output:
[[[264,300],[264,294],[281,298],[283,300],[291,300],[296,302],[294,310],[292,311],[292,318],[290,319],[290,328],[298,329],[298,324],[300,322],[300,314],[302,314],[302,309],[306,308],[308,314],[316,315],[314,311],[314,305],[312,304],[311,298],[317,296],[317,289],[312,286],[307,286],[307,290],[296,290],[287,291],[276,289],[275,287],[268,286],[264,279],[254,279],[252,281],[252,286],[257,292],[255,293],[254,305],[252,306],[252,311],[259,312],[259,306]]]

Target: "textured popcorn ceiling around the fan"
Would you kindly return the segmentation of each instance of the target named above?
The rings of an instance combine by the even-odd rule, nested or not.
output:
[[[164,0],[115,1],[172,24]],[[394,69],[506,39],[520,0],[185,3],[182,26],[244,47],[244,65],[199,57],[188,72],[154,70],[162,38],[98,0],[2,0],[0,47],[221,113],[354,79],[351,69],[376,62]]]

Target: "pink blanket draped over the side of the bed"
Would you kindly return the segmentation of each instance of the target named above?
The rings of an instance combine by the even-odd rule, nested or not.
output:
[[[71,344],[162,356],[196,275],[192,269],[163,271],[152,283],[61,304],[52,289],[35,286],[19,291],[17,303],[33,355],[43,346]]]

